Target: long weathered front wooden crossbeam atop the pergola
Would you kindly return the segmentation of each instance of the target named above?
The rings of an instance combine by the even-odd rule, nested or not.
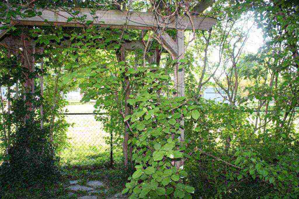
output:
[[[68,8],[70,9],[70,8]],[[67,27],[82,27],[81,22],[72,20],[67,21],[70,17],[80,17],[86,15],[86,21],[93,21],[93,25],[99,27],[112,27],[112,28],[128,28],[147,30],[155,28],[169,28],[169,29],[187,29],[193,30],[209,30],[215,23],[215,18],[191,16],[191,20],[187,16],[172,16],[158,19],[155,18],[154,13],[150,12],[133,12],[121,10],[97,10],[92,13],[92,10],[87,8],[74,8],[80,11],[78,15],[72,15],[71,12],[65,11],[62,8],[57,10],[50,9],[36,9],[36,12],[41,12],[41,16],[34,16],[30,18],[17,18],[15,20],[18,24],[36,25],[36,26],[49,26],[49,25],[62,25]],[[93,15],[94,14],[94,15]]]

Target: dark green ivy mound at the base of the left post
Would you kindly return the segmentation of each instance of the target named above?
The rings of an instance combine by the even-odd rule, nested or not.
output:
[[[59,158],[49,142],[49,135],[49,129],[40,129],[35,122],[20,127],[12,135],[9,158],[0,166],[2,189],[16,184],[33,186],[59,179]]]

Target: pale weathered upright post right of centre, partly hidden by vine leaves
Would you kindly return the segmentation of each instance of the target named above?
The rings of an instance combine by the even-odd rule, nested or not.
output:
[[[184,97],[185,96],[185,69],[184,69],[184,65],[180,65],[182,59],[184,59],[184,30],[178,30],[177,34],[176,34],[176,43],[177,43],[177,49],[178,49],[178,53],[177,53],[177,57],[176,59],[178,60],[178,63],[175,66],[175,86],[177,89],[177,96],[178,97]],[[184,118],[181,118],[180,121],[180,132],[181,135],[179,137],[179,139],[181,140],[181,142],[184,141]],[[176,161],[176,167],[179,168],[183,166],[183,159]]]

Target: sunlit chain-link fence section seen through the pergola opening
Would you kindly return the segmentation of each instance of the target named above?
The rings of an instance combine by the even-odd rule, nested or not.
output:
[[[60,154],[61,163],[94,165],[109,160],[110,145],[105,141],[109,133],[103,130],[102,122],[95,120],[93,104],[72,104],[66,109],[65,120],[71,126],[66,132],[69,145]]]

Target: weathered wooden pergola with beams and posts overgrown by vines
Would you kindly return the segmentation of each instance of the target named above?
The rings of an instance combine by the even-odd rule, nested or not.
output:
[[[155,39],[159,44],[170,53],[173,60],[180,60],[184,58],[184,30],[210,30],[210,28],[216,23],[215,18],[205,16],[179,16],[173,15],[168,17],[161,17],[150,12],[134,12],[134,11],[122,11],[122,10],[93,10],[87,8],[58,8],[58,9],[36,9],[36,13],[42,13],[34,17],[21,18],[17,17],[12,19],[10,27],[16,25],[27,26],[63,26],[63,27],[91,27],[97,28],[114,28],[114,29],[134,29],[134,30],[151,30],[154,32]],[[78,20],[78,18],[85,16],[88,24]],[[167,29],[177,30],[176,39],[174,40],[166,32]],[[10,47],[11,53],[18,53],[18,49],[12,50],[11,48],[22,46],[27,49],[31,54],[37,52],[34,42],[28,43],[28,41],[15,41],[6,37],[1,40],[7,33],[7,30],[0,30],[0,45]],[[66,41],[67,42],[67,41]],[[65,43],[61,42],[61,45]],[[144,42],[134,40],[126,42],[121,46],[121,55],[119,61],[125,61],[125,50],[145,50]],[[40,51],[40,49],[39,49]],[[149,63],[157,61],[157,53],[154,53],[152,57],[148,57]],[[34,56],[29,55],[30,59],[21,61],[23,67],[26,67],[30,71],[34,70],[35,60]],[[177,96],[184,96],[184,68],[179,70],[179,64],[176,64],[174,68],[174,83],[177,90]],[[42,77],[41,84],[42,84]],[[41,85],[42,86],[42,85]],[[26,85],[28,92],[34,92],[34,79],[27,79]],[[16,91],[17,92],[17,91]],[[42,107],[41,107],[42,110]],[[41,121],[42,125],[42,121]],[[184,120],[181,120],[181,125],[184,126]],[[125,135],[125,137],[128,135]],[[181,140],[184,140],[184,130],[181,129]],[[125,138],[126,139],[126,138]]]

